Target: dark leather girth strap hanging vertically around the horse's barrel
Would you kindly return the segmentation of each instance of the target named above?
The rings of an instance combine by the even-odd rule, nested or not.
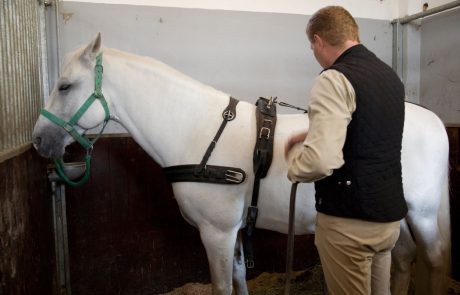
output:
[[[254,187],[251,205],[248,207],[243,239],[246,266],[254,267],[251,237],[254,233],[259,200],[260,179],[267,175],[273,158],[273,140],[276,126],[276,105],[273,99],[259,98],[256,102],[257,138],[254,146]]]

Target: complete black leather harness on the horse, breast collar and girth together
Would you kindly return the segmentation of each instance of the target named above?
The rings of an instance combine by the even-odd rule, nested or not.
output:
[[[230,97],[222,113],[223,121],[214,139],[209,144],[200,164],[176,165],[163,168],[169,182],[205,182],[217,184],[240,184],[246,179],[244,170],[235,167],[207,165],[217,141],[225,126],[236,117],[238,100]],[[251,237],[257,220],[260,179],[267,175],[273,158],[273,140],[276,126],[276,105],[274,99],[260,97],[256,102],[257,138],[253,154],[254,186],[251,205],[248,207],[244,234],[244,253],[248,268],[254,267]]]

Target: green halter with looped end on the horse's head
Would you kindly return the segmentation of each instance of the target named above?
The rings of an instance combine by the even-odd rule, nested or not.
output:
[[[61,126],[62,128],[65,129],[80,145],[86,150],[86,155],[85,155],[85,163],[86,163],[86,170],[85,174],[79,181],[72,181],[69,179],[65,173],[64,173],[64,162],[62,159],[55,160],[54,163],[56,165],[56,172],[61,177],[64,182],[71,186],[80,186],[85,184],[88,179],[89,179],[89,172],[90,172],[90,165],[91,165],[91,153],[93,151],[93,145],[96,143],[96,141],[101,137],[102,132],[105,129],[105,126],[107,125],[108,121],[110,120],[110,112],[109,112],[109,107],[107,104],[107,101],[104,98],[104,95],[102,94],[102,73],[103,73],[103,67],[102,67],[102,53],[100,53],[96,57],[96,66],[94,68],[95,70],[95,86],[94,86],[94,92],[91,94],[90,97],[83,103],[83,105],[78,109],[78,111],[70,118],[69,121],[64,121],[61,118],[58,118],[54,114],[48,112],[45,109],[41,110],[41,115],[49,119],[51,122],[54,124]],[[83,114],[88,110],[88,108],[93,104],[95,100],[99,100],[99,102],[102,104],[102,107],[104,108],[105,112],[105,118],[103,122],[103,126],[99,134],[93,139],[90,140],[88,139],[84,134],[78,133],[78,131],[75,129],[75,125],[77,125],[78,120],[83,116]]]

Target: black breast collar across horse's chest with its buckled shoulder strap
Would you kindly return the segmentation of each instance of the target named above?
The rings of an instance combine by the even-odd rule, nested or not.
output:
[[[230,97],[228,106],[222,112],[223,121],[214,139],[209,144],[200,164],[177,165],[163,168],[169,182],[207,182],[218,184],[240,184],[246,179],[246,173],[235,167],[207,165],[217,141],[227,125],[236,117],[238,100]]]

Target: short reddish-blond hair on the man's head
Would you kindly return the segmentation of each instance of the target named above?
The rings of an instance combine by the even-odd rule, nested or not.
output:
[[[327,6],[313,14],[307,25],[307,36],[312,43],[315,34],[332,46],[348,40],[359,42],[358,25],[353,16],[341,6]]]

